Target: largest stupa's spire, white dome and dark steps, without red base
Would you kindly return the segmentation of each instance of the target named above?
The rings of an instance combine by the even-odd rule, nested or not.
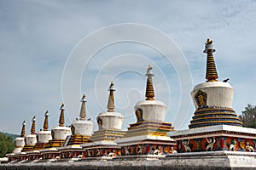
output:
[[[189,128],[209,127],[215,125],[232,125],[241,127],[242,123],[232,109],[234,89],[224,80],[218,82],[212,40],[207,40],[204,53],[207,54],[207,82],[193,88],[191,96],[195,104],[195,116]]]

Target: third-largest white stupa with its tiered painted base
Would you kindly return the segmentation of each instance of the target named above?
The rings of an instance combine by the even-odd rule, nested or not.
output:
[[[81,144],[85,152],[85,157],[91,156],[116,156],[120,153],[120,146],[113,140],[120,139],[125,132],[121,130],[123,116],[114,111],[113,82],[109,86],[108,111],[100,113],[96,120],[99,129],[90,137],[90,143]]]

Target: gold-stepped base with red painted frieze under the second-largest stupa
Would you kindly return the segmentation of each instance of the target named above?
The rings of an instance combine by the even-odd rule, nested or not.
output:
[[[143,121],[128,127],[123,139],[115,142],[122,147],[122,156],[169,155],[176,143],[166,133],[173,131],[172,123]]]

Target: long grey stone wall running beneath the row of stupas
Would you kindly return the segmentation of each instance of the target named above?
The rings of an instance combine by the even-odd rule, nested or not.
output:
[[[215,153],[216,154],[216,153]],[[175,154],[176,155],[176,154]],[[183,169],[255,169],[255,156],[187,156],[177,154],[176,156],[159,158],[147,156],[123,156],[114,160],[84,159],[75,162],[34,162],[34,163],[16,163],[2,164],[0,170],[79,170],[79,169],[103,169],[103,170],[183,170]]]

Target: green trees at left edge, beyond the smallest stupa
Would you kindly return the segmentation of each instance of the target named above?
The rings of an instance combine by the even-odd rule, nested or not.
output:
[[[0,157],[4,157],[5,154],[11,153],[14,149],[14,140],[9,136],[0,133]]]

